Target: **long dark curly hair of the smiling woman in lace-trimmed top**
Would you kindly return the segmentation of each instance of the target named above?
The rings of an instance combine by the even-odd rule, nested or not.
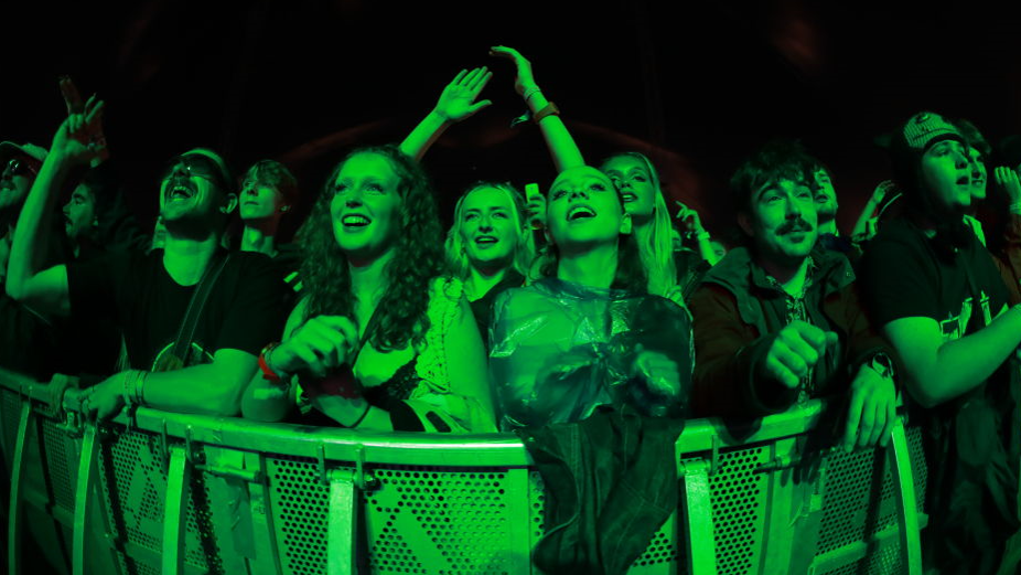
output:
[[[376,306],[379,317],[368,340],[385,352],[401,349],[409,342],[418,345],[424,341],[429,330],[430,287],[445,273],[442,246],[430,241],[441,237],[442,233],[432,185],[421,167],[396,146],[355,150],[330,173],[312,213],[298,232],[302,251],[302,291],[308,294],[305,319],[319,315],[354,315],[347,258],[333,235],[330,203],[333,182],[341,168],[364,153],[381,156],[390,163],[399,180],[397,192],[401,199],[400,234],[394,246],[394,257],[386,267],[386,289]]]

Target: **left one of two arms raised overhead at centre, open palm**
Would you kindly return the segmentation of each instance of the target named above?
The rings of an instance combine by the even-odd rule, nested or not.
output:
[[[476,111],[493,104],[484,99],[475,102],[479,94],[493,77],[485,66],[472,70],[462,70],[454,79],[443,88],[436,107],[427,115],[411,134],[400,142],[400,151],[421,160],[422,156],[451,125],[466,120]]]

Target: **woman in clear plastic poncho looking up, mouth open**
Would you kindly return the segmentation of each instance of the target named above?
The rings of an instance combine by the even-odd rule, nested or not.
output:
[[[587,418],[604,404],[684,415],[688,316],[645,292],[632,216],[605,174],[565,170],[550,188],[544,276],[493,309],[490,369],[501,428]]]

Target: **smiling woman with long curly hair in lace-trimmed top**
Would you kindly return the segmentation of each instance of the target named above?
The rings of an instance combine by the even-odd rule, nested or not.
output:
[[[299,232],[302,299],[260,355],[245,415],[286,417],[292,380],[359,429],[493,429],[485,353],[460,280],[444,276],[433,194],[396,147],[351,153]]]

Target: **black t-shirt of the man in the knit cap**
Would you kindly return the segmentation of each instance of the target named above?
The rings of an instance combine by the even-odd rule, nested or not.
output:
[[[872,239],[860,266],[866,305],[880,328],[900,318],[932,318],[949,341],[978,331],[984,315],[993,318],[1007,304],[1007,286],[975,234],[955,249],[895,220]]]

